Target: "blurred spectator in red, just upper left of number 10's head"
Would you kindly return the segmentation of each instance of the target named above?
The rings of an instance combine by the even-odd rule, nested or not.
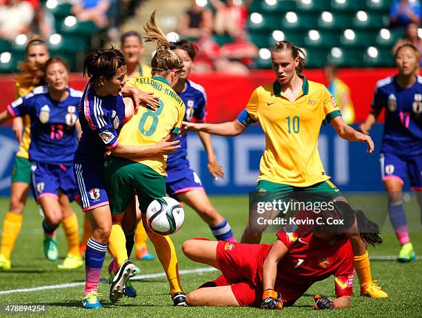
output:
[[[232,43],[221,46],[219,59],[214,66],[217,71],[248,74],[257,56],[258,47],[249,41],[245,30],[238,30]]]

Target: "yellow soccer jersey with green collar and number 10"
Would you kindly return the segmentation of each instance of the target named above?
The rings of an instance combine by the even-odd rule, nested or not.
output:
[[[291,103],[277,81],[254,90],[238,120],[259,121],[265,132],[265,151],[258,180],[308,187],[328,180],[318,152],[321,123],[341,116],[324,85],[303,80],[299,97]]]

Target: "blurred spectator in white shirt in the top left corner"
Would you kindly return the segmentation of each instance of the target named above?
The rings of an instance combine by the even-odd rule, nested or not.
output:
[[[0,38],[12,41],[18,34],[30,33],[34,14],[30,1],[9,0],[0,6]]]

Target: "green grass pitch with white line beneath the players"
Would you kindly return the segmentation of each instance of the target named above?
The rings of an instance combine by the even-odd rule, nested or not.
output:
[[[350,195],[348,196],[353,206],[371,209],[385,209],[385,198],[381,195]],[[212,203],[228,218],[238,239],[247,220],[248,197],[227,196],[212,197]],[[411,203],[411,204],[410,204]],[[405,205],[408,212],[408,221],[411,229],[419,233],[412,233],[411,238],[416,253],[422,255],[422,234],[419,208],[414,196],[411,202]],[[412,205],[412,207],[410,207]],[[0,199],[0,219],[3,221],[8,209],[8,199]],[[82,215],[78,206],[74,205],[75,211],[82,221]],[[188,270],[203,268],[205,265],[196,264],[184,257],[181,253],[181,243],[192,237],[208,237],[212,239],[210,229],[198,217],[194,211],[185,207],[185,224],[181,231],[172,235],[179,257],[179,268]],[[0,290],[12,290],[17,288],[33,288],[54,284],[68,284],[83,282],[84,268],[74,271],[63,271],[57,268],[57,264],[48,262],[43,256],[43,233],[41,229],[41,216],[38,207],[32,199],[24,211],[23,226],[12,253],[12,270],[0,272]],[[387,222],[389,223],[389,222]],[[386,226],[387,229],[390,225]],[[393,233],[382,235],[384,243],[377,248],[370,248],[370,255],[396,255],[399,244]],[[264,243],[274,241],[274,233],[263,235]],[[66,240],[63,231],[59,229],[57,239],[61,258],[66,256]],[[150,251],[154,253],[151,244]],[[110,257],[107,256],[103,266],[102,279],[107,278],[107,266]],[[153,262],[134,261],[141,268],[141,274],[162,272],[158,260]],[[378,279],[382,288],[390,295],[387,299],[368,299],[359,297],[359,282],[355,276],[354,297],[352,308],[343,310],[312,310],[313,296],[317,293],[334,297],[333,279],[314,284],[303,297],[291,308],[282,311],[264,311],[257,308],[174,308],[168,291],[168,282],[165,277],[141,279],[133,282],[137,289],[136,299],[123,298],[119,303],[112,306],[108,301],[109,285],[100,284],[99,293],[103,293],[103,310],[85,310],[81,308],[83,286],[70,288],[39,290],[32,292],[10,293],[0,295],[0,305],[6,304],[47,304],[48,317],[421,317],[422,308],[422,266],[421,260],[411,264],[399,264],[395,260],[372,260],[372,274]],[[191,273],[181,275],[181,282],[186,292],[197,288],[203,282],[217,277],[218,272]],[[3,313],[0,313],[2,316]],[[38,316],[34,315],[33,316]],[[25,315],[26,316],[26,315]]]

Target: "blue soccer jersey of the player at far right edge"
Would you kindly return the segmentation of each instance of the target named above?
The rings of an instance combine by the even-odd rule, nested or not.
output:
[[[412,87],[403,88],[396,77],[376,83],[372,110],[385,108],[385,125],[381,152],[399,155],[422,153],[422,76]]]

